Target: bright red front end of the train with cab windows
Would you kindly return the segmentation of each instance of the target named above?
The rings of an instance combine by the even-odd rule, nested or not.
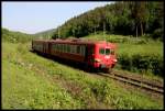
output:
[[[117,63],[116,47],[113,43],[96,44],[94,67],[111,71]]]

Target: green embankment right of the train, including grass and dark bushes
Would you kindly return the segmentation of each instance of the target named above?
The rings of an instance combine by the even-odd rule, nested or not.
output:
[[[163,43],[146,36],[89,35],[88,40],[106,40],[117,44],[118,69],[163,77]]]

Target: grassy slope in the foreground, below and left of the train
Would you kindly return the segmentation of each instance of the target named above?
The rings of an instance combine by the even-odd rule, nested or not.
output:
[[[30,44],[2,43],[2,109],[163,109],[163,99],[121,88],[29,52]]]

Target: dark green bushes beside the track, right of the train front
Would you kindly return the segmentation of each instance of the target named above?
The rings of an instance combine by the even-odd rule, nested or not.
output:
[[[160,55],[136,54],[129,56],[119,55],[119,64],[122,69],[135,71],[152,71],[154,75],[163,76],[163,57]]]

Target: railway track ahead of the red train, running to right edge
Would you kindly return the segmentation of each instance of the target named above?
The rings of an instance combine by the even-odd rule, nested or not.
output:
[[[121,75],[121,74],[117,74],[117,73],[111,73],[111,74],[99,73],[99,75],[107,76],[107,77],[110,77],[112,79],[116,79],[116,80],[119,80],[119,81],[122,81],[122,82],[127,82],[129,85],[145,89],[147,91],[157,92],[157,93],[161,93],[161,95],[164,93],[163,84],[162,85],[156,85],[156,84],[143,80],[143,79],[135,79],[135,78],[132,78],[130,76]]]

